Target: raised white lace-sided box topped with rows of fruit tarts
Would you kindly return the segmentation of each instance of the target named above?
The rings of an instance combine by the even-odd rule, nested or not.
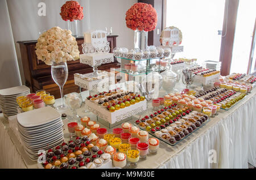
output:
[[[91,112],[112,124],[146,110],[144,96],[122,89],[89,96],[85,103]]]

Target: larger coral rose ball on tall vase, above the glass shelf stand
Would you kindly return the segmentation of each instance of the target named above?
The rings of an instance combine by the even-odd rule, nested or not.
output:
[[[135,3],[126,11],[127,28],[139,31],[153,31],[158,22],[158,15],[152,5],[147,3]]]

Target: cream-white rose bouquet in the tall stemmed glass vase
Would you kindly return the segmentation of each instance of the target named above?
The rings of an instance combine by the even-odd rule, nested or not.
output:
[[[38,38],[35,53],[47,65],[79,59],[79,47],[70,30],[54,27]]]

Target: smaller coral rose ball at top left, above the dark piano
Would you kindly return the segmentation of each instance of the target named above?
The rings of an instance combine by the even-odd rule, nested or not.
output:
[[[83,7],[77,1],[67,1],[63,6],[61,6],[61,18],[65,21],[69,20],[73,22],[74,20],[82,20],[84,14],[82,13]]]

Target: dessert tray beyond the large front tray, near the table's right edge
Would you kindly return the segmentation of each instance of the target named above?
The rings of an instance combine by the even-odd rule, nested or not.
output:
[[[228,90],[226,88],[213,87],[207,91],[197,92],[195,97],[197,97],[197,100],[205,100],[205,102],[208,103],[208,107],[203,109],[203,112],[205,111],[204,113],[208,113],[213,110],[214,107],[212,105],[216,105],[217,109],[221,108],[224,110],[229,110],[234,105],[238,104],[238,101],[246,98],[246,95],[245,93],[236,92],[231,89]]]

